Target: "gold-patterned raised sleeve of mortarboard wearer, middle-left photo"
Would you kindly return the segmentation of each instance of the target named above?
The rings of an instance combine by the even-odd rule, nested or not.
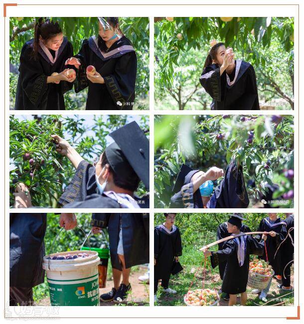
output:
[[[82,160],[61,197],[59,204],[64,206],[74,201],[83,201],[86,196],[96,193],[95,168],[87,161]]]

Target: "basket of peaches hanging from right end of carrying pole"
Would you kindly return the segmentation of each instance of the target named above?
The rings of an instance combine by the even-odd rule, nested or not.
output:
[[[263,290],[267,287],[274,274],[275,272],[269,262],[254,258],[249,263],[247,286]]]

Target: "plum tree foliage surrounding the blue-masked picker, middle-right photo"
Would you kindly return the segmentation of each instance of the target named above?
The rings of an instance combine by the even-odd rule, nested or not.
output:
[[[207,171],[225,169],[232,159],[243,164],[251,205],[273,184],[279,186],[273,198],[293,205],[293,116],[156,115],[154,152],[155,207],[168,206],[182,163]]]

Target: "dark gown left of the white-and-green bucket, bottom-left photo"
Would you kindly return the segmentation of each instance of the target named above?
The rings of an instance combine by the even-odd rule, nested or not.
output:
[[[9,286],[32,288],[44,282],[45,213],[9,214]]]

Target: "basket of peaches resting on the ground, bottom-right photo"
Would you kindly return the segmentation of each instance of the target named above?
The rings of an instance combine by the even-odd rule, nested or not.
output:
[[[212,289],[189,290],[184,296],[187,306],[217,306],[218,301],[218,293]]]

